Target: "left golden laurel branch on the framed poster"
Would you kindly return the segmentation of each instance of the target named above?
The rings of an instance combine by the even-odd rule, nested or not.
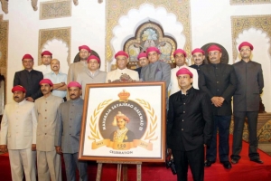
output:
[[[95,110],[93,111],[93,114],[92,114],[92,116],[90,117],[90,123],[89,123],[90,134],[91,134],[91,137],[92,137],[92,138],[90,138],[90,137],[88,136],[89,139],[100,139],[100,137],[99,137],[99,132],[98,132],[98,129],[97,129],[97,124],[96,124],[97,115],[98,115],[98,113],[100,112],[100,110],[102,110],[105,106],[107,106],[107,104],[108,104],[110,101],[111,101],[111,100],[105,100],[105,101],[99,103],[97,109],[95,109]]]

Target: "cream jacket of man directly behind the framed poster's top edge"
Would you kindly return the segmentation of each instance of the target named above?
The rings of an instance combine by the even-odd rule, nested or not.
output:
[[[129,75],[132,80],[139,81],[137,71],[132,71],[132,70],[129,70],[127,68],[125,68],[123,70],[120,70],[120,69],[117,68],[117,70],[115,70],[115,71],[107,72],[107,80],[106,80],[106,82],[108,82],[108,80],[110,80],[110,81],[118,80],[120,78],[120,76],[125,74],[125,73],[127,75]]]

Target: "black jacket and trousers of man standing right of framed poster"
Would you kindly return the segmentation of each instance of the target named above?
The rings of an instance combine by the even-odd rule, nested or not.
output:
[[[203,180],[204,148],[210,146],[212,114],[208,95],[191,88],[169,99],[167,116],[167,146],[173,150],[178,180],[187,179],[188,162],[194,180]]]

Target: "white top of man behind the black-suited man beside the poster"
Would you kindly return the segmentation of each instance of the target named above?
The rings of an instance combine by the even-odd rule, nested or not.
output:
[[[170,86],[169,86],[169,91],[170,91],[170,95],[173,95],[173,93],[179,91],[181,88],[178,84],[178,79],[176,77],[176,72],[179,71],[180,69],[182,68],[186,68],[188,69],[189,71],[192,72],[193,74],[193,82],[192,82],[192,86],[194,89],[196,90],[199,90],[199,75],[198,75],[198,71],[194,68],[191,68],[187,65],[182,65],[181,67],[176,67],[174,69],[172,69],[171,71],[171,83],[170,83]]]

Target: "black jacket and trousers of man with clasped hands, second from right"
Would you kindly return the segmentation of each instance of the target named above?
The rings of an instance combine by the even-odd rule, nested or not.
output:
[[[220,133],[220,162],[229,161],[229,125],[231,119],[231,97],[236,90],[237,78],[232,65],[206,64],[201,67],[199,88],[207,92],[209,99],[218,96],[225,100],[221,107],[213,104],[214,117],[213,136],[210,148],[207,149],[206,159],[216,161],[217,157],[217,129]],[[211,103],[211,101],[210,101]]]

